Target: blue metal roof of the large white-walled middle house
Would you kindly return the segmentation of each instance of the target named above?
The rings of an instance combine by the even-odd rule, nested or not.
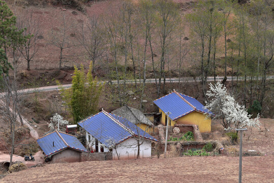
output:
[[[116,122],[114,121],[115,119],[117,120]],[[140,128],[136,129],[138,127],[132,124],[126,118],[116,116],[105,111],[99,112],[82,120],[78,123],[78,125],[106,147],[116,145],[130,137],[133,137],[134,134],[136,135],[138,130],[140,132],[139,134],[144,138],[157,141],[155,138],[145,133]],[[111,144],[109,143],[109,140],[112,141]]]

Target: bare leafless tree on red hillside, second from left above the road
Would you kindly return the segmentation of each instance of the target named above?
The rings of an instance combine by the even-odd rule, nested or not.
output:
[[[59,51],[59,68],[58,70],[61,70],[62,63],[64,63],[65,55],[63,51],[67,48],[71,48],[75,46],[75,44],[72,43],[70,40],[72,29],[72,23],[66,19],[65,13],[62,15],[62,24],[59,27],[52,27],[51,31],[49,32],[49,43],[56,46]]]

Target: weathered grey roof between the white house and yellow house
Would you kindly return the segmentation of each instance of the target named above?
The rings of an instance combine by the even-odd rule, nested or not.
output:
[[[148,126],[153,126],[153,123],[145,117],[145,115],[138,109],[129,106],[120,107],[111,112],[112,114],[124,117],[128,119],[133,124],[145,124]]]

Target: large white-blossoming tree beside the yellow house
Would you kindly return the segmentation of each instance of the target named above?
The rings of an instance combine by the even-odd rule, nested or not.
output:
[[[213,118],[223,119],[221,124],[225,130],[260,126],[259,114],[255,119],[252,119],[247,109],[237,103],[220,82],[217,82],[216,85],[210,83],[206,95],[209,102],[205,102],[205,108],[215,114],[215,116],[211,115]]]

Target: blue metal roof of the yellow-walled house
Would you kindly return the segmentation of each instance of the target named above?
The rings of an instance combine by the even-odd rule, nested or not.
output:
[[[212,112],[204,109],[204,106],[193,97],[172,92],[164,97],[156,99],[154,103],[165,113],[171,112],[169,117],[172,120],[185,116],[193,111],[212,114]]]

